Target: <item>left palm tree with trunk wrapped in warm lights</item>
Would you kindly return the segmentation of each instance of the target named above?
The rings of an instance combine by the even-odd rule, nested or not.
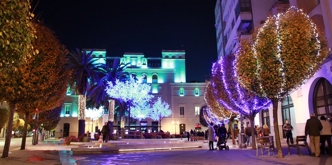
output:
[[[92,58],[91,54],[95,49],[89,53],[85,50],[77,52],[69,52],[67,55],[68,61],[66,65],[72,70],[70,87],[73,87],[76,82],[76,94],[78,92],[78,136],[85,133],[85,103],[86,93],[89,91],[89,84],[97,83],[103,75],[105,75],[105,64],[95,63],[99,58]]]

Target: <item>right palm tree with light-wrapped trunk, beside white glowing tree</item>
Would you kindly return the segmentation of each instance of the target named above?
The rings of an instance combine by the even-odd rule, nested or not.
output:
[[[106,75],[99,80],[97,84],[94,84],[91,88],[90,93],[88,94],[92,102],[97,106],[99,104],[104,105],[108,108],[108,124],[110,125],[111,131],[113,131],[113,122],[114,122],[114,109],[115,109],[115,99],[110,98],[106,93],[106,87],[108,82],[111,82],[115,85],[117,79],[120,81],[128,80],[128,72],[124,72],[124,69],[129,68],[130,63],[122,64],[120,63],[120,58],[117,58],[113,61],[113,65],[110,63],[106,64]]]

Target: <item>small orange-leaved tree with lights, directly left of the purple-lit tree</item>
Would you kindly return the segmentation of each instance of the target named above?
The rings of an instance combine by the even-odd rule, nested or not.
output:
[[[220,103],[218,103],[218,101],[216,100],[216,98],[213,94],[213,87],[212,87],[211,82],[206,81],[205,83],[207,85],[206,85],[205,92],[204,92],[204,100],[208,107],[208,109],[206,109],[207,114],[209,114],[209,115],[207,115],[207,119],[209,121],[208,123],[211,123],[212,120],[214,120],[215,122],[217,120],[218,123],[228,123],[229,122],[231,135],[232,135],[232,141],[233,141],[233,144],[235,144],[233,121],[234,121],[234,119],[239,118],[239,114],[229,111],[223,105],[220,105]],[[212,114],[213,114],[213,117],[212,117]],[[212,122],[212,123],[214,123],[214,122]]]

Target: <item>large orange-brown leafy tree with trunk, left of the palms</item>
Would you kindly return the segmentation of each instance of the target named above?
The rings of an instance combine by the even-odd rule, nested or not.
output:
[[[21,149],[25,149],[30,116],[36,113],[37,108],[39,112],[43,112],[58,107],[63,103],[67,82],[71,73],[64,66],[68,51],[60,44],[54,32],[39,24],[36,24],[35,28],[39,37],[32,41],[32,45],[39,49],[40,52],[34,55],[32,61],[26,66],[26,70],[30,70],[30,73],[26,75],[27,78],[23,79],[23,81],[31,81],[35,85],[33,87],[36,88],[36,91],[29,93],[30,95],[28,96],[31,100],[18,102],[17,104],[17,111],[25,114]],[[29,76],[36,78],[30,80]]]

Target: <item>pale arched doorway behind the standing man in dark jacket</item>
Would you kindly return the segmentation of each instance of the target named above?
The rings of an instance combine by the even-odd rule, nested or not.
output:
[[[287,96],[282,104],[281,104],[281,112],[283,117],[283,126],[286,124],[286,120],[288,120],[289,124],[293,126],[292,134],[293,137],[296,137],[296,123],[295,123],[295,111],[293,100],[290,95]],[[285,130],[283,129],[283,137],[286,138]]]

